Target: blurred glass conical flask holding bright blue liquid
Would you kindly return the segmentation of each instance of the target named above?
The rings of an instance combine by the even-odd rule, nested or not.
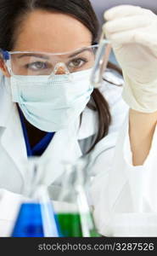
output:
[[[53,212],[48,190],[38,178],[39,163],[30,159],[25,195],[28,201],[21,203],[11,236],[14,237],[58,237],[59,226]],[[42,170],[44,173],[44,170]],[[40,166],[41,172],[41,166]]]

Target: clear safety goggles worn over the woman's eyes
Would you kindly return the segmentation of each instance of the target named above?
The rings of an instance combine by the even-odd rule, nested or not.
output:
[[[108,42],[106,41],[101,55],[102,53],[104,55],[107,45]],[[4,51],[0,49],[0,55],[8,67],[8,72],[11,75],[22,76],[52,76],[91,69],[94,67],[97,52],[98,44],[57,54],[31,51]],[[100,62],[99,64],[101,64]]]

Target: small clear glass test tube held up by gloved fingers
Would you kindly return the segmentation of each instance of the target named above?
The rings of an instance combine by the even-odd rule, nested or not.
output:
[[[103,74],[109,61],[110,51],[111,44],[109,44],[109,40],[104,38],[103,32],[98,44],[98,51],[96,54],[95,64],[90,78],[91,84],[93,84],[94,88],[98,88],[103,81]]]

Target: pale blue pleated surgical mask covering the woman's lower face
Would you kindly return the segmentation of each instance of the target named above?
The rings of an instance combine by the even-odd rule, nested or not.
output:
[[[59,131],[75,121],[90,100],[91,69],[71,75],[15,76],[10,79],[13,102],[25,119],[42,131]]]

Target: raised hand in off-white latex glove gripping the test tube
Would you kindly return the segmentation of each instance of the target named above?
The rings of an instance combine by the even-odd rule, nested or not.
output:
[[[124,100],[139,112],[157,111],[157,15],[120,5],[107,10],[104,19],[104,33],[124,75]]]

